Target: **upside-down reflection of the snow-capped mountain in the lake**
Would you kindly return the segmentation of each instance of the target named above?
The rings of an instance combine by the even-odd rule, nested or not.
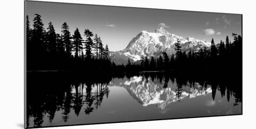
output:
[[[202,88],[202,85],[195,83],[194,87],[182,86],[180,96],[178,97],[177,87],[169,82],[167,88],[163,88],[163,82],[159,80],[152,81],[151,78],[134,76],[121,82],[115,80],[112,85],[124,87],[128,93],[136,99],[142,106],[155,104],[158,108],[165,109],[169,103],[182,100],[184,98],[195,98],[212,92],[210,87]]]

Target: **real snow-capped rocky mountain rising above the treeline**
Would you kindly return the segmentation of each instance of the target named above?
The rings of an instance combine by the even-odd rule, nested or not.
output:
[[[170,56],[175,53],[175,43],[180,40],[182,51],[188,52],[189,49],[198,51],[203,47],[210,47],[211,43],[203,40],[188,37],[184,39],[181,36],[171,34],[167,32],[163,27],[156,29],[153,32],[141,31],[135,38],[133,38],[127,47],[118,52],[110,52],[110,57],[116,60],[128,60],[128,58],[134,61],[140,60],[141,56],[157,57],[162,52],[167,52]],[[120,59],[121,58],[121,59]],[[117,61],[117,64],[120,64]]]

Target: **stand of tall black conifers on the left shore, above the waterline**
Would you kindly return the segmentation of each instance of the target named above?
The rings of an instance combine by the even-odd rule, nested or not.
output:
[[[44,28],[39,14],[35,14],[33,21],[32,29],[27,16],[27,71],[91,71],[111,67],[108,45],[104,46],[101,37],[89,29],[84,30],[84,40],[78,28],[71,35],[66,22],[58,34],[52,22],[48,23],[47,29]]]

